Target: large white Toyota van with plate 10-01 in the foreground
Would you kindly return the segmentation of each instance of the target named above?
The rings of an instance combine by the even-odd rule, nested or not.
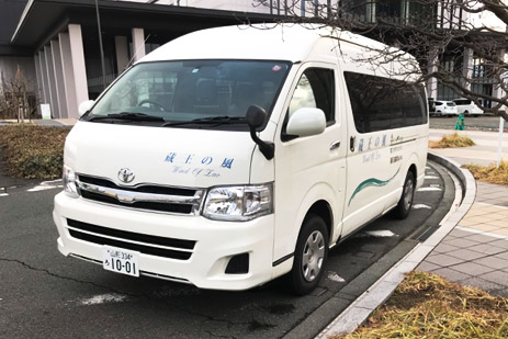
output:
[[[81,105],[55,197],[58,249],[203,289],[289,273],[308,293],[329,248],[390,211],[406,217],[424,182],[425,89],[384,72],[414,60],[358,61],[383,47],[230,26],[147,55]]]

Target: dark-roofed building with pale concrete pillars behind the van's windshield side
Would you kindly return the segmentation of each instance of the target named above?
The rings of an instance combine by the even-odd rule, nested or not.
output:
[[[99,1],[103,77],[94,0],[3,0],[0,71],[10,79],[20,65],[53,117],[77,118],[80,102],[95,99],[104,84],[161,44],[196,30],[274,19],[269,8],[245,1],[206,1],[208,8],[199,8],[204,3]],[[228,4],[234,10],[223,10]]]

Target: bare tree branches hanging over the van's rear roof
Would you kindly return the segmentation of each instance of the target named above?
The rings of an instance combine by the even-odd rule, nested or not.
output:
[[[255,0],[253,5],[270,7],[271,12],[276,8],[281,23],[329,25],[390,46],[381,50],[382,57],[359,59],[373,67],[403,57],[392,47],[405,50],[418,61],[418,81],[426,82],[430,93],[439,89],[474,100],[508,121],[508,1]],[[475,20],[481,16],[483,23]]]

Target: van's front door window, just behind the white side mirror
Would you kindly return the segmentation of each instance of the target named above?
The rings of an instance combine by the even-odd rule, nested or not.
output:
[[[291,98],[289,115],[302,108],[320,109],[327,125],[335,122],[334,71],[325,68],[308,68],[298,80]]]

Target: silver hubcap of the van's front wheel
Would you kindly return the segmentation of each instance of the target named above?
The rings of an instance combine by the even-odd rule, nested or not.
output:
[[[323,267],[325,238],[319,230],[313,231],[305,241],[302,256],[302,272],[306,281],[314,281]]]

